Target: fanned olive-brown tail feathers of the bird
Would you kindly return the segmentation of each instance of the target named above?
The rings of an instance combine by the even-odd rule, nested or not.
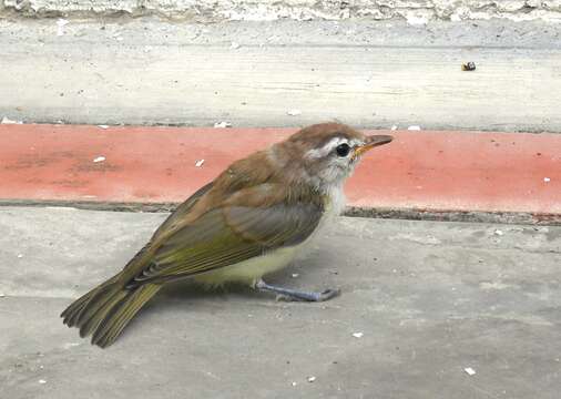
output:
[[[80,336],[92,334],[92,344],[110,346],[140,308],[161,288],[156,284],[125,288],[119,275],[73,301],[62,314],[64,324],[80,328]]]

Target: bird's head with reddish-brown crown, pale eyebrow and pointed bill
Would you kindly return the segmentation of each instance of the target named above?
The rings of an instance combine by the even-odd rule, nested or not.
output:
[[[326,191],[340,186],[364,153],[391,140],[389,135],[368,136],[340,123],[320,123],[293,134],[278,144],[278,151],[294,178]]]

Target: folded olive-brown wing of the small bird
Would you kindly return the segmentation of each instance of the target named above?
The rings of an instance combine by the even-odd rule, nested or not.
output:
[[[304,202],[214,208],[167,236],[129,285],[190,277],[299,244],[322,214],[323,206]]]

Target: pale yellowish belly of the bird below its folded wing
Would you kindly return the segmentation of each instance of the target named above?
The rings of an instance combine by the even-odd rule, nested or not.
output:
[[[264,275],[287,266],[304,244],[278,248],[232,266],[205,273],[195,277],[195,282],[208,286],[221,286],[225,283],[244,283],[253,285]]]

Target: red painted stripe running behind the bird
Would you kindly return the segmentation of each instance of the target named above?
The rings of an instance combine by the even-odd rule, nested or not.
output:
[[[232,161],[292,132],[0,125],[0,198],[181,202]],[[396,140],[366,155],[348,182],[349,205],[561,214],[561,135],[389,134]],[[94,163],[98,156],[105,161]]]

